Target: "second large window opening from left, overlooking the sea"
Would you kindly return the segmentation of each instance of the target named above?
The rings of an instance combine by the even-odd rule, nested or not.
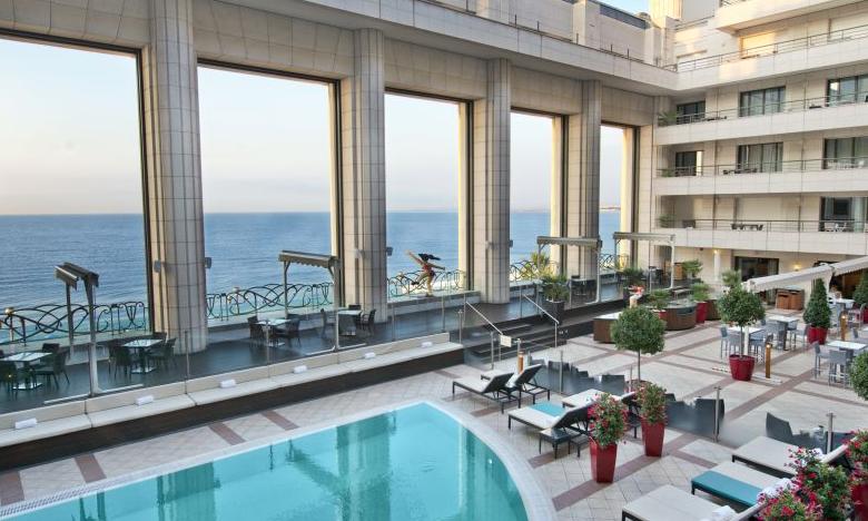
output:
[[[282,312],[278,252],[332,253],[328,87],[211,67],[198,76],[208,293],[240,293],[233,313]],[[290,283],[327,288],[331,277],[298,266]],[[325,305],[327,294],[290,292],[289,307]]]

